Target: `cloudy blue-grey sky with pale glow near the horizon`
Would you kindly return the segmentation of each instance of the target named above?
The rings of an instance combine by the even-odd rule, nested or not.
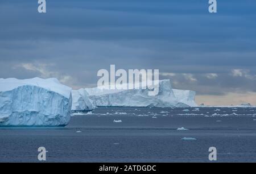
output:
[[[256,105],[256,1],[0,1],[0,78],[97,85],[99,69],[159,69],[205,105]]]

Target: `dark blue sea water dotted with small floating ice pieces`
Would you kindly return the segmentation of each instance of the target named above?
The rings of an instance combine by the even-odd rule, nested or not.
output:
[[[256,162],[256,108],[101,107],[61,129],[0,129],[1,162],[38,162],[41,146],[52,162],[207,162],[212,146],[218,162]]]

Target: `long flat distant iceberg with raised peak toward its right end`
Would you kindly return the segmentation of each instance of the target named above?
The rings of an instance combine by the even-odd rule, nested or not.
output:
[[[86,88],[96,106],[117,107],[193,107],[195,92],[172,89],[170,80],[159,81],[159,93],[148,96],[149,89],[108,90]]]

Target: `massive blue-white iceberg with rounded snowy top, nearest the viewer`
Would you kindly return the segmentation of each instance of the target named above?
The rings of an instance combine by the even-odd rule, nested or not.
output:
[[[0,126],[65,126],[71,88],[56,78],[0,78]]]

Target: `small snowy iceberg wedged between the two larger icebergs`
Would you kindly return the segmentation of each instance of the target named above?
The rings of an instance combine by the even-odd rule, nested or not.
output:
[[[85,89],[72,90],[72,111],[90,111],[95,108]]]

